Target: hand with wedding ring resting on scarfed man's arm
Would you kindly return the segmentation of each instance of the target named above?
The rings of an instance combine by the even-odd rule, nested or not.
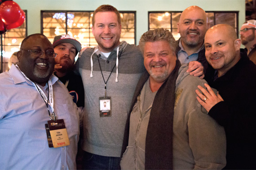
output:
[[[196,97],[198,102],[205,108],[207,112],[209,112],[209,110],[211,110],[211,108],[214,105],[224,100],[223,98],[221,98],[221,95],[219,94],[219,92],[217,92],[217,95],[216,95],[209,85],[207,85],[206,83],[204,85],[208,91],[199,85],[197,87],[201,90],[203,94],[200,93],[199,90],[195,90],[195,93],[197,93],[198,95]]]

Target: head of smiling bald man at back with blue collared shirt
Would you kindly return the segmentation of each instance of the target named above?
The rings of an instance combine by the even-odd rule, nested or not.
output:
[[[207,16],[203,9],[191,6],[181,13],[177,23],[178,33],[181,34],[182,46],[202,46],[204,35],[208,29]]]

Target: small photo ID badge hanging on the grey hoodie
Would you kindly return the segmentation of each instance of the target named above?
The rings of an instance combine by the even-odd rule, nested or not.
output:
[[[111,97],[99,97],[100,117],[111,116]]]

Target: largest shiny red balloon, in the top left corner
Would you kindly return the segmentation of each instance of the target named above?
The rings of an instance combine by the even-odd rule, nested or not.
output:
[[[5,1],[0,5],[0,18],[6,25],[17,22],[21,16],[20,6],[11,0]]]

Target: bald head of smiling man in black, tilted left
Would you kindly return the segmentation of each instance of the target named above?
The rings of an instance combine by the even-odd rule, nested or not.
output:
[[[205,56],[208,63],[222,76],[240,59],[241,40],[236,39],[234,28],[220,24],[205,35]]]

